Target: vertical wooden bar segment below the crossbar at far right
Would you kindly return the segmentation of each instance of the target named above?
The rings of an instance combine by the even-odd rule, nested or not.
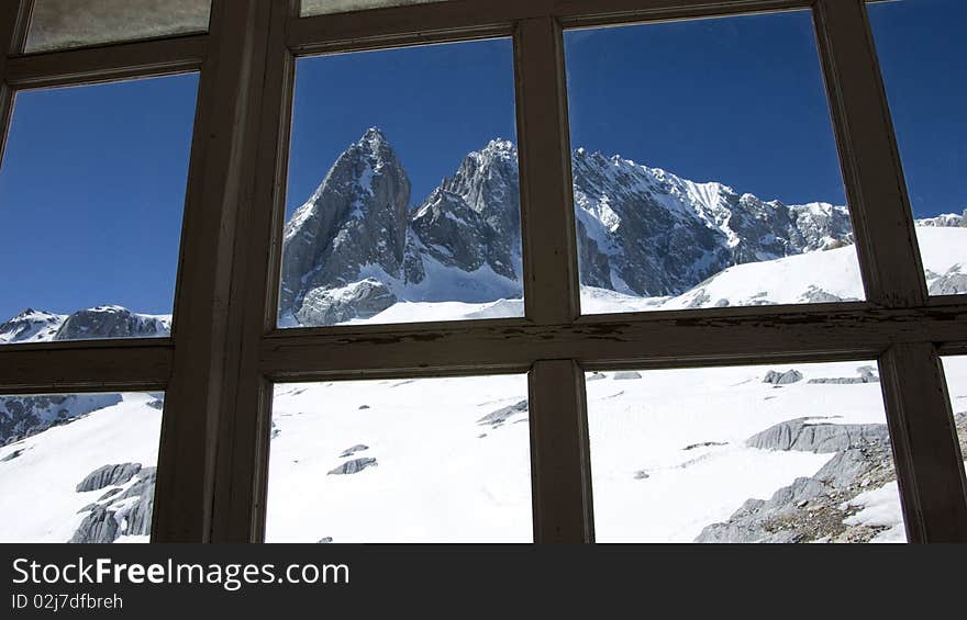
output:
[[[936,349],[890,347],[880,377],[908,540],[967,542],[967,481]]]

